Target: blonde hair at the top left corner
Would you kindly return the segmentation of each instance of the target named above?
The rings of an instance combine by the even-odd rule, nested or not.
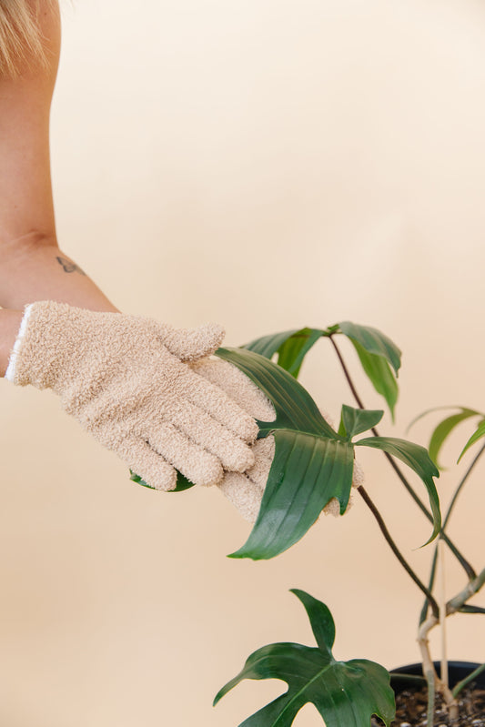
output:
[[[32,61],[45,65],[37,14],[50,0],[0,0],[0,76],[17,76]]]

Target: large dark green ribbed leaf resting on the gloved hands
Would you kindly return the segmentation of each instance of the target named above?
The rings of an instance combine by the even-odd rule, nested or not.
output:
[[[339,437],[288,371],[254,351],[219,348],[225,358],[255,381],[271,399],[274,421],[258,421],[259,437],[275,437],[275,456],[258,519],[242,548],[231,558],[274,558],[300,540],[321,510],[337,498],[340,512],[349,503],[353,445]]]

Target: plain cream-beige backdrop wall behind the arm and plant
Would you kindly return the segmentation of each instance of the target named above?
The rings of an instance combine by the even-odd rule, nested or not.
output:
[[[429,407],[485,407],[481,1],[83,0],[64,20],[59,238],[119,308],[221,321],[228,345],[381,328],[405,352],[394,436]],[[334,418],[352,403],[325,343],[302,380]],[[338,658],[417,660],[420,596],[360,502],[276,560],[227,560],[248,525],[217,491],[139,488],[55,397],[1,393],[2,724],[236,727],[284,688],[247,682],[212,709],[249,652],[311,641],[292,587],[334,612]],[[369,491],[425,577],[429,526],[368,454]],[[477,568],[482,480],[450,528]],[[450,561],[450,592],[462,582]],[[483,661],[484,634],[455,618],[450,655]]]

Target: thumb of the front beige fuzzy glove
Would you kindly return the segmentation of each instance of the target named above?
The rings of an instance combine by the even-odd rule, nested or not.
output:
[[[171,354],[181,361],[195,361],[211,356],[221,345],[225,330],[217,323],[198,328],[171,328],[160,325],[158,336]]]

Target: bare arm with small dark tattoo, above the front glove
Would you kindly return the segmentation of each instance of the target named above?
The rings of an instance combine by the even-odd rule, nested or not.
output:
[[[56,2],[44,4],[32,0],[31,5],[33,14],[37,14],[45,63],[39,61],[33,47],[26,43],[16,75],[0,74],[2,375],[25,304],[56,300],[77,308],[116,311],[95,283],[57,245],[49,161],[49,112],[59,58],[60,22]],[[18,40],[22,45],[22,37]]]

